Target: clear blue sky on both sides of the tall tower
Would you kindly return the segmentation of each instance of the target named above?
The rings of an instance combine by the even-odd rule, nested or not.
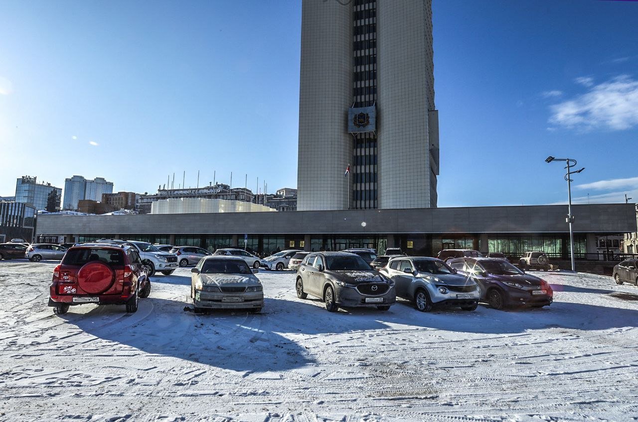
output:
[[[638,200],[638,3],[434,0],[440,207]],[[300,2],[4,1],[0,196],[297,183]]]

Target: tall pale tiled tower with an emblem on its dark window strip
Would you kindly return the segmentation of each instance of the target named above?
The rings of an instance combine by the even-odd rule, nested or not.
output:
[[[301,19],[298,209],[436,207],[431,0],[303,0]]]

